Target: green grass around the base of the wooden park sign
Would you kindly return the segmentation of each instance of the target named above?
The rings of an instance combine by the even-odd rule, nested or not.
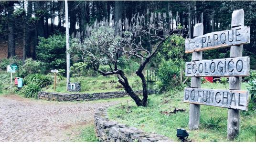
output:
[[[206,83],[203,88],[223,89],[222,84]],[[245,83],[242,84],[245,90]],[[185,128],[194,142],[226,142],[227,135],[227,108],[201,105],[200,129],[188,130],[189,104],[183,103],[183,91],[179,95],[166,94],[149,96],[148,107],[138,107],[130,100],[108,109],[108,117],[122,124],[138,127],[146,132],[156,132],[179,141],[176,137],[176,128]],[[128,108],[128,106],[131,106]],[[185,112],[165,115],[161,111],[173,111],[174,107],[185,109]],[[241,112],[240,134],[235,142],[255,142],[256,111]]]

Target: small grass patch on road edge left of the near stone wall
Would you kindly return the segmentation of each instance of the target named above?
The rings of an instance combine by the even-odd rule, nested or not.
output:
[[[94,132],[94,125],[86,125],[74,142],[98,142]]]

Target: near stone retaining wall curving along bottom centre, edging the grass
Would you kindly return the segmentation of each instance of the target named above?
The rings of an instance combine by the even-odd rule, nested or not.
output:
[[[107,119],[107,106],[98,109],[94,116],[96,136],[100,142],[172,142],[168,137],[145,133]]]

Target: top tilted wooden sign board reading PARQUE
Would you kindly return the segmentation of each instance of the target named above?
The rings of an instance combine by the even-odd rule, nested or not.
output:
[[[226,48],[250,43],[250,27],[240,26],[230,30],[207,33],[185,40],[185,53]]]

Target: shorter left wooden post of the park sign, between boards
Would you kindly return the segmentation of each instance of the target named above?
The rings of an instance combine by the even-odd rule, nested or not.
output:
[[[203,23],[195,24],[193,37],[203,35]],[[192,61],[202,60],[202,51],[192,53]],[[191,87],[201,88],[201,77],[191,77]],[[199,127],[200,105],[190,104],[189,108],[189,129],[196,130]]]

